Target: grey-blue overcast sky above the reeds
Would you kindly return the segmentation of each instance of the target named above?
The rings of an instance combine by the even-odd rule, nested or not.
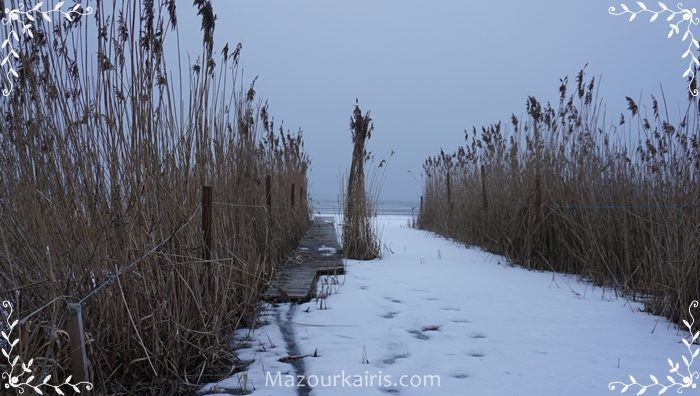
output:
[[[247,79],[276,120],[302,128],[312,160],[310,191],[335,199],[349,168],[355,98],[371,110],[368,149],[388,158],[382,198],[417,200],[425,158],[453,151],[464,129],[507,120],[528,95],[557,102],[559,78],[586,63],[602,76],[608,123],[625,96],[660,96],[672,115],[686,101],[687,62],[668,23],[633,23],[603,0],[213,0],[215,48],[241,42]],[[628,1],[636,8],[634,1]],[[651,8],[656,1],[647,1]],[[688,3],[692,3],[689,1]],[[669,5],[675,2],[669,2]],[[634,6],[634,7],[633,7]],[[200,19],[178,2],[183,47],[199,54]],[[648,101],[647,101],[648,103]]]

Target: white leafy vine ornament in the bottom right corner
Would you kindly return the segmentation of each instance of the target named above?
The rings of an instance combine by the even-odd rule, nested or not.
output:
[[[653,388],[653,387],[659,387],[659,395],[663,395],[666,393],[667,390],[672,389],[672,388],[678,388],[676,389],[676,393],[682,394],[685,389],[691,388],[691,389],[696,389],[697,388],[697,382],[696,380],[700,379],[700,373],[695,370],[693,371],[692,366],[693,363],[695,362],[695,359],[700,356],[700,348],[697,347],[697,344],[694,344],[695,341],[700,337],[700,331],[697,331],[693,333],[693,325],[695,324],[695,317],[693,316],[692,309],[698,307],[698,301],[695,300],[692,303],[690,303],[690,306],[688,307],[688,313],[690,314],[691,322],[688,323],[687,320],[683,320],[683,324],[685,327],[688,328],[688,333],[690,334],[689,337],[683,337],[681,338],[681,341],[683,344],[688,348],[688,356],[682,355],[681,358],[683,360],[683,364],[685,365],[684,368],[681,368],[680,363],[676,363],[670,358],[668,359],[668,365],[671,367],[668,372],[669,374],[674,374],[676,377],[672,377],[671,375],[666,376],[666,380],[668,380],[668,383],[664,382],[659,382],[659,379],[653,375],[649,375],[649,379],[651,382],[647,385],[641,384],[637,382],[637,380],[633,376],[629,376],[629,383],[625,382],[620,382],[620,381],[615,381],[611,382],[608,384],[608,389],[610,390],[616,390],[618,385],[621,385],[622,388],[620,390],[620,393],[625,393],[627,392],[630,388],[636,388],[639,387],[639,391],[637,392],[637,395],[643,395],[646,393],[647,389]],[[695,350],[693,350],[693,346],[695,346]],[[680,380],[680,382],[676,381],[676,378]]]

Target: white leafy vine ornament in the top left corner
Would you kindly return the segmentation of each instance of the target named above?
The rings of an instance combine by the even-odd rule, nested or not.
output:
[[[43,4],[44,3],[40,1],[32,8],[26,7],[25,9],[24,3],[19,3],[15,9],[5,8],[5,16],[0,20],[0,23],[6,26],[7,37],[2,39],[2,43],[0,44],[0,70],[9,88],[3,88],[3,96],[10,96],[14,90],[13,78],[19,77],[15,62],[19,62],[20,56],[16,47],[20,43],[20,39],[24,36],[30,39],[34,38],[32,29],[37,19],[43,19],[48,23],[52,23],[53,19],[51,19],[50,14],[59,14],[63,15],[67,21],[72,22],[76,17],[89,15],[94,11],[92,7],[83,7],[80,3],[73,5],[68,11],[64,11],[63,5],[65,2],[63,1],[56,3],[53,9],[43,11],[41,9]]]

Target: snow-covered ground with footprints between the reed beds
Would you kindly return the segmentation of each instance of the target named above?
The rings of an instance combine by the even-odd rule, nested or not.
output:
[[[246,382],[254,395],[296,395],[269,380],[301,370],[319,396],[612,395],[621,386],[611,391],[610,382],[663,379],[667,358],[688,354],[680,343],[687,334],[640,304],[573,276],[510,266],[412,229],[409,220],[380,216],[384,257],[348,260],[345,276],[319,282],[325,300],[267,305],[265,325],[236,333],[250,345],[239,356],[255,359],[247,378],[237,374],[203,392],[233,392]],[[317,356],[279,362],[290,345]],[[400,378],[423,383],[402,386]]]

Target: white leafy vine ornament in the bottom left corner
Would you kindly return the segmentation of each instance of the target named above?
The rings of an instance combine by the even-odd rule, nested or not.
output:
[[[7,380],[7,383],[4,384],[5,389],[16,389],[19,393],[24,393],[25,389],[32,389],[36,394],[43,395],[45,391],[42,391],[41,388],[51,388],[53,392],[55,392],[58,395],[65,395],[65,393],[61,390],[62,387],[66,388],[71,388],[74,392],[80,393],[80,387],[84,386],[86,390],[92,390],[93,384],[90,382],[78,382],[78,383],[71,383],[70,380],[72,379],[72,376],[68,376],[63,383],[59,385],[53,385],[50,384],[49,381],[51,381],[51,375],[45,376],[41,381],[36,382],[35,380],[38,380],[37,377],[32,375],[32,372],[34,369],[32,369],[32,365],[34,364],[34,359],[29,359],[29,362],[26,364],[24,362],[20,363],[20,357],[19,355],[14,355],[13,350],[15,349],[15,346],[19,343],[19,339],[13,339],[12,338],[12,330],[14,330],[15,327],[17,327],[17,324],[19,321],[15,319],[13,322],[10,322],[10,317],[12,316],[12,303],[9,301],[3,301],[2,306],[5,309],[9,309],[10,312],[9,314],[6,314],[7,318],[3,318],[4,322],[2,323],[2,328],[3,330],[0,331],[0,336],[3,338],[3,343],[0,344],[2,345],[2,355],[5,359],[7,359],[7,363],[10,366],[10,371],[3,371],[2,372],[2,378],[4,380]],[[2,316],[4,316],[5,313],[3,313]],[[7,332],[5,332],[7,331]],[[18,371],[18,372],[15,372]],[[25,376],[29,374],[29,377]],[[35,383],[36,382],[36,383]]]

